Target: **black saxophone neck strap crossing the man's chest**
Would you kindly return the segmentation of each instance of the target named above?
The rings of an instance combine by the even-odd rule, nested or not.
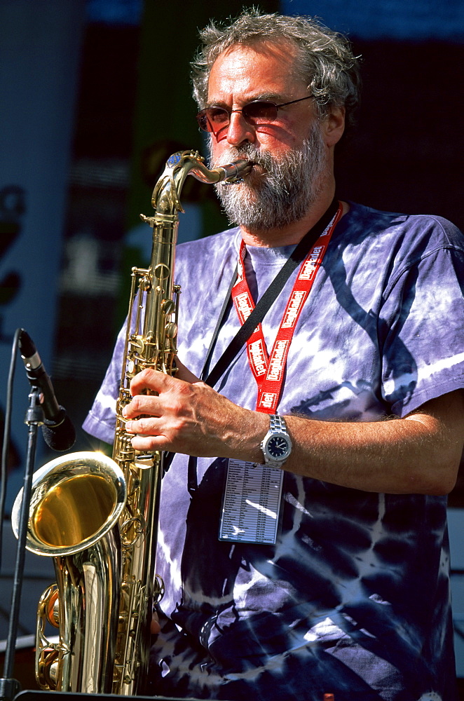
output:
[[[224,373],[226,368],[236,357],[237,353],[240,351],[240,348],[243,347],[243,345],[252,335],[257,325],[261,323],[261,321],[264,319],[266,313],[271,308],[273,302],[275,301],[275,299],[277,299],[280,292],[282,292],[285,283],[287,282],[290,275],[292,275],[294,269],[297,268],[301,264],[303,259],[306,258],[306,255],[308,254],[313,244],[318,240],[322,231],[326,229],[326,227],[332,221],[333,217],[336,215],[336,210],[338,206],[338,201],[336,200],[336,198],[334,198],[332,200],[331,205],[329,206],[329,209],[325,212],[325,214],[323,214],[319,221],[316,222],[316,224],[313,226],[313,228],[310,229],[308,233],[305,234],[305,236],[303,236],[299,244],[296,246],[292,254],[290,254],[289,258],[285,262],[285,265],[280,269],[278,274],[275,275],[275,278],[273,279],[271,285],[269,285],[266,292],[264,292],[261,299],[259,299],[259,301],[257,302],[257,305],[254,307],[254,310],[252,311],[250,316],[240,327],[240,329],[238,329],[238,332],[228,344],[226,350],[221,355],[221,358],[219,358],[216,365],[214,365],[207,377],[204,378],[205,371],[211,360],[214,345],[217,341],[219,329],[224,320],[224,316],[226,314],[228,305],[231,301],[232,287],[235,284],[237,278],[237,268],[235,269],[231,283],[228,287],[226,299],[224,299],[224,304],[222,305],[221,313],[219,314],[219,319],[217,320],[216,328],[214,329],[214,334],[212,336],[210,347],[208,348],[205,363],[203,365],[203,371],[201,373],[201,377],[207,385],[210,385],[210,387],[214,387],[214,385],[217,383],[217,381]]]

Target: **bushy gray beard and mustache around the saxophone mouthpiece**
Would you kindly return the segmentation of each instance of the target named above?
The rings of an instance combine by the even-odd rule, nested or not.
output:
[[[264,172],[253,171],[238,185],[220,183],[215,188],[228,221],[251,231],[280,229],[303,219],[328,173],[318,124],[298,151],[276,158],[254,144],[243,144],[230,147],[221,154],[221,163],[213,162],[212,167],[238,158],[261,165]]]

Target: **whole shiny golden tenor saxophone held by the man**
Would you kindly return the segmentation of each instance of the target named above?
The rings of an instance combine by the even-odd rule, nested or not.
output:
[[[36,627],[36,679],[43,690],[143,693],[151,611],[163,583],[155,574],[163,454],[135,451],[123,408],[145,368],[175,374],[179,286],[174,284],[180,192],[187,175],[237,183],[253,163],[208,170],[197,151],[168,159],[153,189],[149,268],[132,268],[128,323],[116,402],[113,456],[78,452],[34,473],[27,549],[53,557],[56,583],[43,592]],[[12,512],[18,534],[22,492]],[[47,629],[58,629],[49,639]]]

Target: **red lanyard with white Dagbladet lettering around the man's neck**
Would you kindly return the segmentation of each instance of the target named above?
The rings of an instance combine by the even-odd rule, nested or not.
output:
[[[280,322],[277,336],[275,336],[271,355],[268,355],[261,324],[254,329],[254,332],[247,341],[248,362],[250,363],[250,368],[258,386],[257,411],[263,411],[265,414],[275,414],[277,410],[285,376],[287,355],[290,343],[292,343],[296,322],[299,319],[308,294],[311,292],[315,276],[318,273],[332,233],[334,233],[335,226],[337,222],[339,222],[341,214],[342,207],[341,203],[339,203],[339,208],[332,222],[330,222],[327,229],[322,232],[301,263],[299,273],[296,276],[292,292],[290,293],[287,306],[285,307]],[[245,243],[242,241],[238,257],[238,278],[232,289],[233,304],[236,308],[240,324],[245,322],[254,309],[254,302],[250,293],[250,287],[248,287],[245,266],[243,264],[245,253]]]

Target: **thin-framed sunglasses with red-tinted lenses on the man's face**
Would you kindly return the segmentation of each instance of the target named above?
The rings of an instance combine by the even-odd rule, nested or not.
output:
[[[232,112],[241,112],[247,124],[256,126],[259,124],[268,124],[277,119],[277,113],[280,107],[287,107],[287,104],[294,104],[302,100],[309,100],[313,95],[300,97],[299,100],[291,100],[290,102],[282,102],[275,104],[270,100],[252,100],[245,104],[242,109],[226,109],[225,107],[205,107],[201,109],[196,118],[200,129],[207,132],[217,133],[219,130],[228,127],[231,121]]]

